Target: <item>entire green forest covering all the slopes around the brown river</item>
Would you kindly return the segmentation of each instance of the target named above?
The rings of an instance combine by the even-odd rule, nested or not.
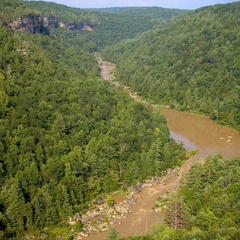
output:
[[[94,51],[125,39],[102,51],[119,81],[239,125],[239,3],[107,11],[0,1],[0,239],[73,239],[70,217],[186,158],[158,109],[100,77]],[[128,239],[239,239],[239,166],[193,166],[166,223]]]

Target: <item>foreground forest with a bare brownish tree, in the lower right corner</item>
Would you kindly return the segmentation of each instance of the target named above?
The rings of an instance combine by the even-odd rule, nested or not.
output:
[[[125,240],[207,240],[240,237],[240,159],[208,157],[192,166],[166,210],[166,222],[151,233]],[[116,235],[113,231],[109,236]]]

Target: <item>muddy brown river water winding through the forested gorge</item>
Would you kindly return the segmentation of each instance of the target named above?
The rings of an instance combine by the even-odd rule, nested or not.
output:
[[[109,73],[112,66],[104,62],[101,65],[102,76],[108,81],[111,80]],[[137,101],[140,101],[139,98]],[[238,131],[220,126],[203,115],[182,113],[171,109],[162,109],[162,112],[167,119],[171,137],[176,141],[182,141],[187,150],[198,149],[199,152],[197,157],[186,160],[176,174],[154,186],[143,188],[135,195],[137,202],[132,205],[131,213],[122,219],[120,224],[116,224],[116,230],[121,237],[146,233],[153,223],[163,221],[164,214],[155,213],[152,210],[156,198],[166,191],[176,190],[183,172],[188,170],[194,162],[201,162],[209,154],[218,153],[227,159],[240,157],[240,133]],[[123,200],[124,196],[119,196],[117,201]],[[92,233],[84,239],[103,240],[106,239],[107,234],[108,232]]]

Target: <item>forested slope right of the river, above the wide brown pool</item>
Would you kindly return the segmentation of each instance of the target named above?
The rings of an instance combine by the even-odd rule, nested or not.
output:
[[[102,56],[144,98],[240,129],[239,25],[239,2],[200,8]]]

